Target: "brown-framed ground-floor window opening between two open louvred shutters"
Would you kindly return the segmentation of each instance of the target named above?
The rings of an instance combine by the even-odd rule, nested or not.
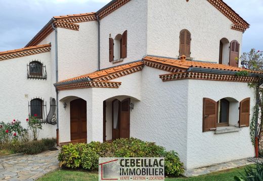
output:
[[[221,99],[217,102],[217,126],[229,126],[229,101]]]

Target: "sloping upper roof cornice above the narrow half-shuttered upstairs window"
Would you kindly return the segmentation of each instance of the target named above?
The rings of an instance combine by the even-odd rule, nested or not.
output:
[[[130,0],[113,0],[106,6],[104,6],[102,9],[100,9],[96,15],[99,16],[99,19],[104,18],[105,16],[109,15],[110,13],[114,12],[121,6],[125,5],[128,3]]]

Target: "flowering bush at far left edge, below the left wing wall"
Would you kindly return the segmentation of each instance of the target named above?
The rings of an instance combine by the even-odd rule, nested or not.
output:
[[[21,126],[21,122],[16,119],[10,123],[0,122],[0,143],[10,143],[18,140],[28,141],[28,131]]]

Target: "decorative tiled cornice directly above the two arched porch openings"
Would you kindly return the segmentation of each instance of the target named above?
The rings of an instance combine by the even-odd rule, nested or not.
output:
[[[54,86],[59,90],[84,89],[84,88],[119,88],[121,82],[86,81],[79,83],[63,84]]]

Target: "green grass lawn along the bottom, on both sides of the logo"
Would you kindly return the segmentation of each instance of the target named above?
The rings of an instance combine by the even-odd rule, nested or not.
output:
[[[195,176],[190,178],[165,178],[168,181],[213,181],[213,180],[222,180],[222,181],[233,181],[234,176],[239,176],[239,172],[244,173],[244,167],[233,168],[225,171],[214,172],[206,175]],[[47,175],[43,176],[42,178],[37,179],[37,181],[58,181],[58,180],[91,180],[97,181],[98,180],[98,173],[97,172],[88,172],[88,171],[72,171],[72,170],[57,170]]]

